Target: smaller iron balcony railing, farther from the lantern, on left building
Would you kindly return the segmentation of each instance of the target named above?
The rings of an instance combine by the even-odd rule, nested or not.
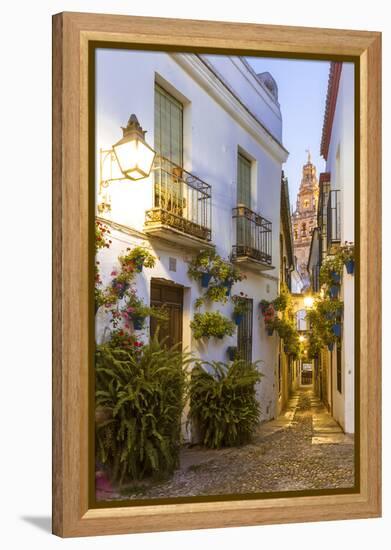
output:
[[[236,226],[233,259],[249,258],[262,264],[272,264],[272,223],[243,205],[232,210]]]

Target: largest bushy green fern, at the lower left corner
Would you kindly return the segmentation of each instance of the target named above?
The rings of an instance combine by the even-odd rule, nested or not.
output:
[[[178,466],[186,369],[192,361],[158,335],[140,351],[96,350],[96,457],[118,484],[165,477]]]

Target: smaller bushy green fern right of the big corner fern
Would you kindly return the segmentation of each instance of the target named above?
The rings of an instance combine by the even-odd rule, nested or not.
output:
[[[190,418],[212,449],[251,441],[259,422],[257,363],[198,363],[191,373]]]

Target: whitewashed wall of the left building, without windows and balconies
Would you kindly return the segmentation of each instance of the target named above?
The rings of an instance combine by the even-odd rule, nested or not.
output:
[[[215,57],[209,60],[216,62]],[[248,73],[250,82],[243,77],[245,65],[229,58],[219,60],[219,70],[232,79],[232,86],[240,84],[240,95],[246,101],[253,101],[257,117],[265,114],[269,130],[277,138],[281,136],[281,115],[279,106],[270,108],[270,98],[257,80]],[[226,66],[225,66],[226,65]],[[226,72],[229,67],[229,73]],[[266,217],[273,224],[273,266],[266,276],[243,270],[247,279],[238,283],[232,293],[243,291],[254,301],[253,360],[261,360],[260,370],[264,374],[258,388],[262,418],[276,414],[277,391],[277,343],[276,336],[269,337],[259,318],[258,304],[261,299],[272,300],[278,291],[279,273],[279,227],[280,227],[280,184],[282,161],[286,152],[271,139],[270,134],[259,129],[247,110],[232,94],[221,86],[221,82],[210,70],[188,55],[170,55],[152,52],[121,50],[99,50],[97,53],[96,81],[96,148],[108,149],[120,139],[120,127],[125,126],[131,113],[135,113],[145,130],[146,140],[154,144],[154,83],[158,81],[167,91],[184,104],[184,168],[205,180],[212,186],[212,242],[217,252],[228,258],[234,244],[232,208],[236,205],[236,174],[238,149],[243,150],[254,161],[254,185],[252,209]],[[239,70],[240,68],[240,70]],[[198,72],[197,72],[198,71]],[[201,74],[199,73],[201,71]],[[210,79],[210,81],[209,81]],[[221,94],[228,94],[226,97]],[[234,106],[237,109],[232,114]],[[249,118],[250,117],[250,118]],[[97,159],[97,177],[99,163]],[[97,181],[98,184],[98,181]],[[152,207],[152,177],[138,182],[114,182],[109,189],[112,211],[107,219],[142,231],[145,211]],[[176,245],[162,245],[157,240],[152,245],[136,235],[112,231],[111,249],[100,252],[102,279],[110,280],[110,273],[118,255],[127,246],[141,244],[151,249],[158,262],[154,269],[146,269],[137,275],[138,294],[148,304],[150,300],[150,279],[165,278],[181,284],[184,292],[183,338],[184,346],[196,355],[208,360],[227,361],[226,349],[236,345],[236,334],[222,342],[211,339],[207,344],[194,341],[189,322],[193,317],[193,303],[200,294],[198,283],[187,276],[188,250]],[[169,258],[176,258],[177,270],[168,270]],[[228,302],[214,304],[210,309],[219,310],[231,317],[232,306]],[[97,339],[104,337],[108,319],[103,312],[97,316]],[[146,328],[145,336],[148,333]]]

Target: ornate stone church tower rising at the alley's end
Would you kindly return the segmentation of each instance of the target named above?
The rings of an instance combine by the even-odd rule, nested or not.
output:
[[[297,258],[297,270],[304,287],[309,285],[307,263],[311,246],[312,231],[317,226],[319,185],[316,168],[311,162],[311,155],[303,166],[300,189],[297,195],[296,210],[292,215],[293,250]]]

